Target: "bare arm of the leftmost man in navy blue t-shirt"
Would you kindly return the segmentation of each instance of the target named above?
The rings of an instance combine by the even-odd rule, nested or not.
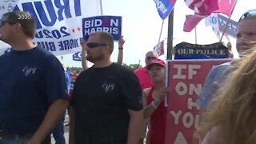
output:
[[[63,114],[67,106],[69,106],[69,102],[66,99],[58,99],[52,102],[42,124],[27,144],[39,144],[44,141],[46,136],[50,134],[55,125],[64,116]]]

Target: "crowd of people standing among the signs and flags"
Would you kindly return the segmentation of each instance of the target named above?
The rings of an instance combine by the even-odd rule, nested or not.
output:
[[[8,12],[0,22],[0,39],[13,49],[0,56],[1,144],[50,144],[51,134],[56,144],[165,143],[166,129],[171,129],[164,104],[170,88],[166,62],[155,51],[147,52],[146,66],[133,72],[122,66],[123,36],[118,62],[111,62],[114,39],[97,31],[80,43],[84,70],[70,73],[62,60],[34,45],[33,16],[18,15],[30,13]],[[249,10],[238,22],[240,58],[214,66],[198,97],[197,143],[256,142],[255,42],[256,10]],[[64,137],[66,114],[69,139]]]

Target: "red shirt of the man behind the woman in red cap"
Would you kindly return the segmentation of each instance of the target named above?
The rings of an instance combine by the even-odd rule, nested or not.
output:
[[[146,69],[146,66],[141,69],[135,70],[134,74],[137,75],[139,83],[142,86],[142,90],[154,86],[154,83],[150,78],[150,74]]]

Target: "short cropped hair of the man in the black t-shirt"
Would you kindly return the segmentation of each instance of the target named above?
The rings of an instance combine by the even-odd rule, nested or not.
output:
[[[94,33],[91,33],[90,36],[98,35],[100,43],[105,43],[110,46],[110,54],[112,54],[114,50],[114,38],[112,35],[106,31],[96,31]]]

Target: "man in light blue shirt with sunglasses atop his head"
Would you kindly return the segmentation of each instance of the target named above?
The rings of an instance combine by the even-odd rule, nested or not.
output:
[[[236,47],[238,54],[242,55],[250,52],[250,48],[256,44],[256,10],[249,10],[238,21]],[[225,82],[226,77],[232,71],[232,67],[236,62],[225,63],[215,66],[206,78],[206,82],[202,87],[202,92],[198,98],[198,104],[206,109],[208,103],[218,88]]]

